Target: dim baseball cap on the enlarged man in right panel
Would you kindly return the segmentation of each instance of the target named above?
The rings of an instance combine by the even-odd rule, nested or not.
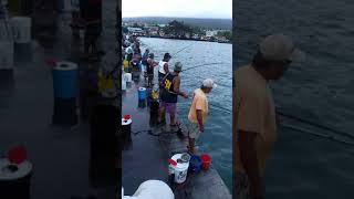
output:
[[[259,44],[259,50],[266,60],[292,62],[304,60],[304,53],[296,49],[292,40],[284,34],[267,36]]]

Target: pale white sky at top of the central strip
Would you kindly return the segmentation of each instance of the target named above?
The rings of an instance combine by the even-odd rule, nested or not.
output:
[[[232,19],[232,0],[122,0],[122,15]]]

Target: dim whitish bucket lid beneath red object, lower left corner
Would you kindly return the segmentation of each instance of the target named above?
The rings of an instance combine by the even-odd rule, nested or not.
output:
[[[23,178],[32,171],[32,164],[28,160],[24,160],[20,165],[14,165],[18,170],[11,171],[8,167],[11,165],[9,159],[0,159],[0,180],[12,180]]]

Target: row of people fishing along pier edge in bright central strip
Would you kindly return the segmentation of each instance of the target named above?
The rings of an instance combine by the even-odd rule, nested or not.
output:
[[[177,122],[177,103],[178,96],[189,98],[187,92],[180,90],[180,73],[183,72],[181,62],[176,62],[174,69],[170,70],[169,61],[173,57],[169,53],[165,53],[159,62],[155,61],[155,54],[148,49],[140,54],[139,42],[136,35],[126,36],[123,42],[126,46],[124,51],[124,64],[131,67],[140,67],[144,71],[145,80],[147,77],[147,87],[154,86],[154,72],[157,66],[157,80],[159,90],[159,112],[158,124],[166,124],[166,114],[169,115],[169,126],[171,128],[179,127]],[[140,66],[138,66],[140,65]],[[216,84],[211,78],[202,81],[201,86],[194,91],[192,102],[188,113],[188,150],[195,154],[195,142],[205,130],[205,123],[209,112],[207,94],[209,94]]]

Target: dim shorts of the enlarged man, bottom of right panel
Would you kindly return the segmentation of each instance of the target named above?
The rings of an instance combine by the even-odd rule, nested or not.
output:
[[[233,199],[252,199],[250,182],[244,172],[233,172]]]

